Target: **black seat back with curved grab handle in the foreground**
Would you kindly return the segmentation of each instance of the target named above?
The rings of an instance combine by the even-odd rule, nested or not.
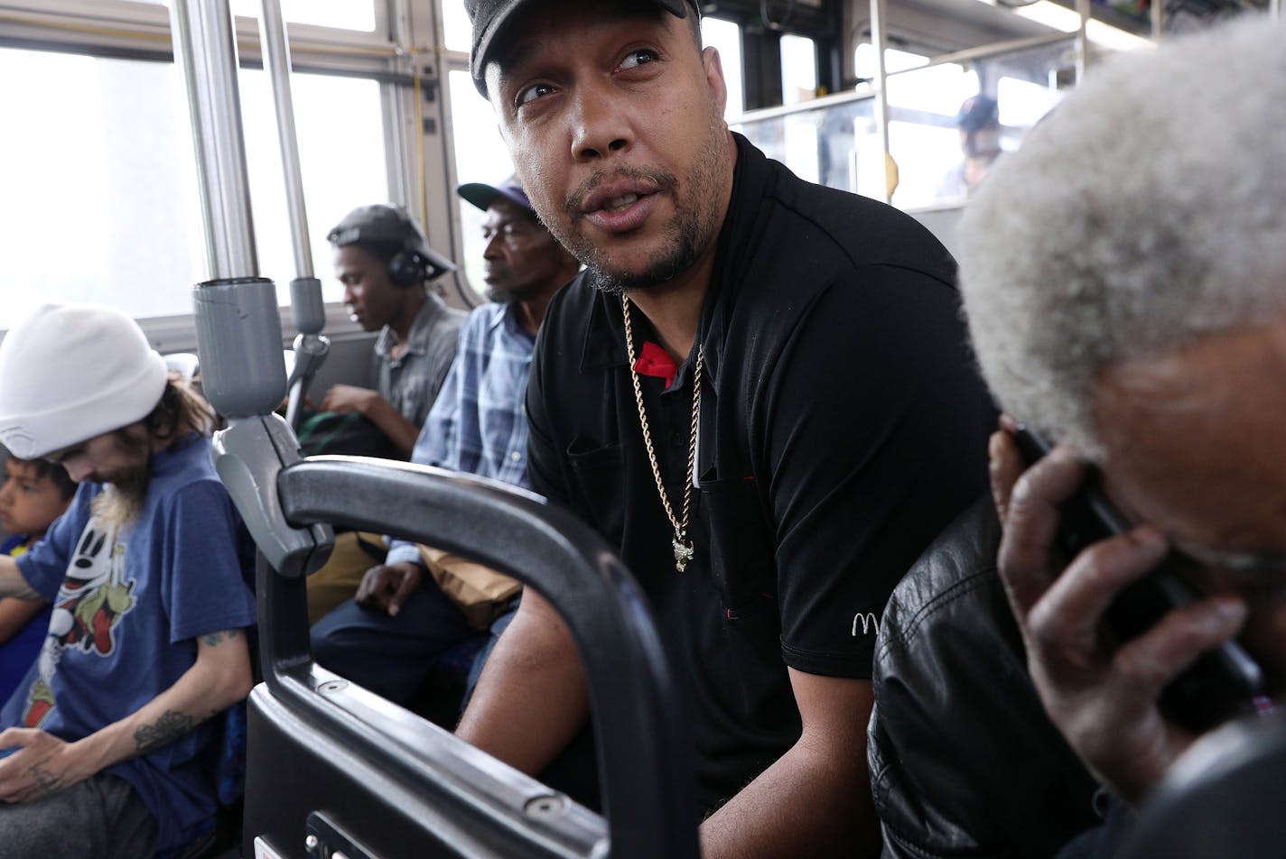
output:
[[[531,493],[379,460],[303,460],[276,488],[294,526],[441,546],[561,612],[586,672],[606,819],[315,665],[305,580],[261,564],[244,855],[697,855],[691,740],[665,656],[642,592],[597,534]]]

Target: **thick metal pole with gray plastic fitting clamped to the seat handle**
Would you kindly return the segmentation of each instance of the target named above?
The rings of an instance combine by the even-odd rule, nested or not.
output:
[[[325,560],[332,535],[327,525],[292,526],[276,496],[276,478],[300,449],[273,413],[285,395],[282,318],[276,286],[257,273],[233,17],[228,0],[171,0],[170,22],[210,256],[210,279],[192,290],[201,385],[228,421],[215,433],[215,470],[267,562],[300,577]]]

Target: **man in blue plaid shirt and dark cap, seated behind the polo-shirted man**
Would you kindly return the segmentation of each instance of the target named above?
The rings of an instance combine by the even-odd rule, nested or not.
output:
[[[531,352],[549,299],[579,263],[536,220],[516,177],[498,186],[462,185],[459,194],[487,213],[482,256],[490,302],[460,329],[455,362],[412,462],[527,487],[523,401]],[[391,701],[410,702],[437,656],[477,634],[426,571],[414,543],[392,541],[356,597],[312,628],[314,659]],[[511,615],[493,624],[493,641]]]

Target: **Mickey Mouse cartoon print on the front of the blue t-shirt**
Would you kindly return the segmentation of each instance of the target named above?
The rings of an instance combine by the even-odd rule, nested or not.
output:
[[[51,679],[63,651],[111,656],[116,624],[134,605],[134,580],[125,580],[125,543],[117,542],[114,528],[90,517],[54,600],[49,634],[40,650],[40,677],[31,684],[22,716],[24,727],[40,725],[57,705]]]

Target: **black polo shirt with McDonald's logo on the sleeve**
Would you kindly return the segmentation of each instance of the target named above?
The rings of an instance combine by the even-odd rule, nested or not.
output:
[[[799,738],[787,666],[871,677],[876,619],[986,485],[993,411],[946,250],[900,212],[796,178],[739,135],[705,344],[688,537],[674,566],[621,304],[581,275],[550,303],[527,389],[532,488],[620,547],[652,600],[711,808]],[[635,349],[652,336],[633,313]],[[682,516],[696,351],[643,376]]]

